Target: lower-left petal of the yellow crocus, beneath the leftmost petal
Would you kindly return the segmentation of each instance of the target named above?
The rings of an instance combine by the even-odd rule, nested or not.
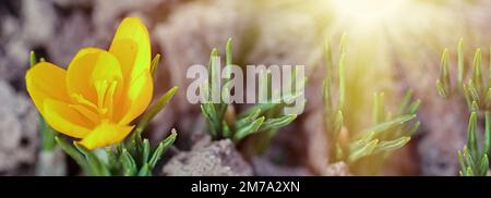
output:
[[[83,138],[91,132],[91,124],[65,102],[46,99],[41,114],[52,128],[68,136]]]

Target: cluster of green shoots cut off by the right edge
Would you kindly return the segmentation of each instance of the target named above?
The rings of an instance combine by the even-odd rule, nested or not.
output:
[[[491,54],[491,46],[490,46]],[[470,117],[467,129],[467,144],[463,150],[458,151],[458,162],[460,165],[459,174],[462,176],[486,176],[489,170],[488,152],[490,147],[490,117],[491,108],[491,61],[489,63],[488,83],[482,76],[481,49],[476,49],[470,77],[465,82],[466,71],[464,57],[464,41],[460,39],[457,46],[457,85],[452,86],[450,76],[450,53],[445,49],[442,54],[440,65],[440,78],[436,81],[436,88],[443,98],[456,96],[464,97],[470,111]],[[478,141],[478,120],[484,116],[484,140],[479,146]],[[479,149],[481,147],[481,149]]]

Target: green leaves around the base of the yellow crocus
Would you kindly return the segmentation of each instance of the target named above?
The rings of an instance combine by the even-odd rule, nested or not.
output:
[[[152,61],[152,74],[159,63],[160,55],[156,55]],[[44,61],[44,59],[40,59]],[[31,53],[31,66],[36,64],[36,55]],[[70,156],[84,171],[86,175],[92,176],[151,176],[152,172],[159,161],[163,153],[173,144],[177,133],[172,129],[171,134],[161,140],[156,148],[152,148],[148,139],[142,137],[152,119],[161,111],[168,101],[173,97],[177,87],[171,88],[161,96],[152,108],[149,108],[142,116],[140,123],[132,132],[131,136],[124,141],[116,144],[111,147],[97,150],[87,150],[83,146],[73,141],[70,144],[64,137],[55,133],[43,116],[40,120],[40,132],[43,135],[43,150],[52,151],[56,147],[60,147],[68,156]]]

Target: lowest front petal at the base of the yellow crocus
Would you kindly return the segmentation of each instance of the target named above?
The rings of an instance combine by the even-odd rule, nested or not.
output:
[[[134,126],[124,126],[103,122],[94,131],[92,131],[88,136],[79,141],[79,144],[89,150],[117,144],[123,140],[133,127]]]

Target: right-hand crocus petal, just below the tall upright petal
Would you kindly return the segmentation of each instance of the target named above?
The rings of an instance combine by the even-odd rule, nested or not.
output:
[[[154,92],[154,83],[152,74],[145,72],[129,85],[125,95],[122,98],[122,109],[120,111],[120,124],[129,124],[131,121],[142,114],[152,101]]]

